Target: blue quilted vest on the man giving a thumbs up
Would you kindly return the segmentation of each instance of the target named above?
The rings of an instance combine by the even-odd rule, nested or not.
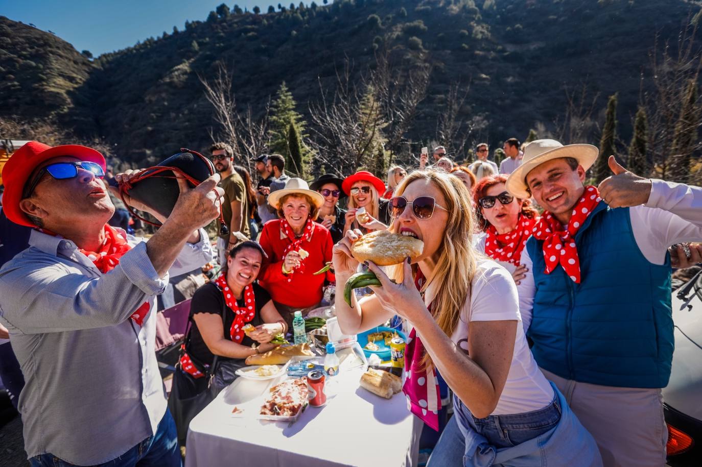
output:
[[[664,388],[673,360],[670,255],[651,264],[639,250],[628,208],[604,202],[575,237],[576,284],[557,266],[545,274],[543,241],[527,242],[534,261],[531,351],[545,370],[602,386]]]

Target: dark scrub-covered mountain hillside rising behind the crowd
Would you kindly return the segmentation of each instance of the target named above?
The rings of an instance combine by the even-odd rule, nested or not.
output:
[[[105,140],[114,156],[154,161],[181,146],[208,146],[217,126],[199,76],[215,76],[218,62],[233,71],[237,108],[251,105],[259,115],[285,81],[307,118],[310,104],[322,99],[320,85],[333,91],[346,60],[359,80],[385,53],[399,76],[431,70],[404,135],[411,151],[442,142],[437,119],[452,85],[461,93],[470,85],[458,116],[472,122],[471,142],[495,147],[512,136],[523,140],[530,128],[555,130],[566,91],[583,84],[589,96],[599,96],[597,118],[618,93],[618,129],[628,139],[637,102],[653,88],[647,73],[656,35],[659,47],[675,45],[700,11],[683,0],[343,0],[290,7],[260,14],[218,8],[184,30],[92,61],[51,33],[0,17],[0,117],[55,117],[74,135]]]

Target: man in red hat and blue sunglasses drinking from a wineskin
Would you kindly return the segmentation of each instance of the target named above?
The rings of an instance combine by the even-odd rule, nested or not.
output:
[[[219,214],[219,175],[192,189],[178,180],[178,203],[145,242],[107,224],[104,170],[95,149],[29,142],[2,172],[4,213],[34,227],[0,269],[0,322],[25,376],[25,450],[32,466],[180,466],[152,310],[169,272],[212,258],[201,227]]]

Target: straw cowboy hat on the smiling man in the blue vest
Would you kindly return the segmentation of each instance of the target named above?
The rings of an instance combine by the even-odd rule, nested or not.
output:
[[[568,144],[564,146],[556,140],[534,140],[524,148],[524,158],[522,165],[519,165],[505,183],[507,191],[517,198],[531,198],[529,187],[527,187],[527,175],[538,165],[552,159],[572,157],[588,170],[595,163],[600,149],[592,144]]]

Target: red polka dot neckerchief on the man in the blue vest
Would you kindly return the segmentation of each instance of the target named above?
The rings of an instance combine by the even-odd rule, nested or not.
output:
[[[552,273],[560,264],[574,283],[580,283],[580,259],[575,244],[575,235],[585,219],[597,208],[600,201],[602,198],[596,187],[585,187],[583,197],[573,208],[571,219],[565,230],[550,212],[543,213],[541,220],[534,225],[531,231],[535,238],[543,240],[543,259],[546,262],[544,273]]]

